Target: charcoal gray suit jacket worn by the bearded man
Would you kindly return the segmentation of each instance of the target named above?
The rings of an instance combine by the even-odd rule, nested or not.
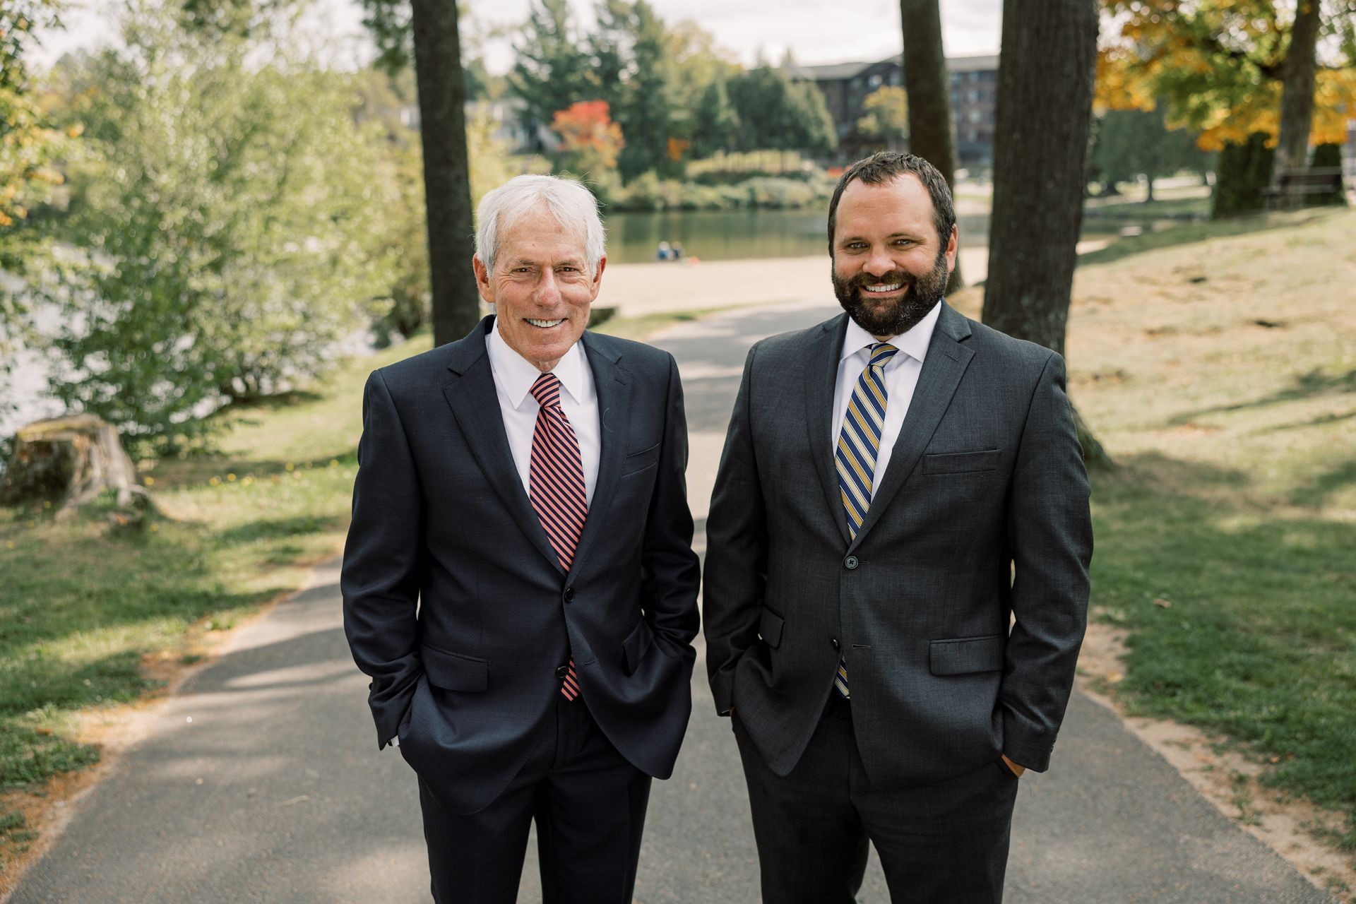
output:
[[[749,352],[706,522],[716,710],[734,706],[786,774],[842,652],[875,785],[941,781],[1002,752],[1044,770],[1092,558],[1064,362],[944,302],[850,541],[830,424],[846,325],[842,314]]]

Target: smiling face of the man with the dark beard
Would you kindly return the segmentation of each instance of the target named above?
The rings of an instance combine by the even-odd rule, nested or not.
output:
[[[852,182],[834,226],[834,294],[880,340],[909,332],[946,294],[956,228],[942,247],[928,188],[913,173]]]

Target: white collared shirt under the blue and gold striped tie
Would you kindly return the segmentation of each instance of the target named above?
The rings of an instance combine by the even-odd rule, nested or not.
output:
[[[890,465],[890,455],[895,449],[895,440],[899,439],[899,428],[904,423],[904,415],[909,413],[909,404],[914,398],[918,374],[922,373],[923,358],[928,356],[928,346],[932,343],[932,333],[940,316],[941,302],[938,301],[922,320],[914,324],[913,329],[885,340],[898,348],[899,354],[885,362],[885,426],[880,435],[880,451],[876,453],[876,470],[871,476],[873,493]],[[871,362],[868,347],[877,342],[875,336],[858,327],[856,320],[848,319],[848,335],[843,336],[843,347],[838,358],[838,382],[834,385],[834,434],[829,440],[830,454],[838,447],[843,417],[848,415],[848,401],[861,378],[861,371]]]

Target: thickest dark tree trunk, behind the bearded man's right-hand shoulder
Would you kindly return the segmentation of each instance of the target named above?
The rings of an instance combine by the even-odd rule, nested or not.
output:
[[[1005,0],[983,321],[1059,354],[1078,263],[1096,61],[1096,0]],[[1105,461],[1086,428],[1079,439],[1088,461]]]

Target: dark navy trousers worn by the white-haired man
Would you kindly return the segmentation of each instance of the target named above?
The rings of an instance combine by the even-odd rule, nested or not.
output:
[[[650,777],[617,752],[582,699],[561,697],[542,735],[479,813],[449,813],[419,777],[437,904],[513,904],[533,820],[544,904],[631,901]]]

